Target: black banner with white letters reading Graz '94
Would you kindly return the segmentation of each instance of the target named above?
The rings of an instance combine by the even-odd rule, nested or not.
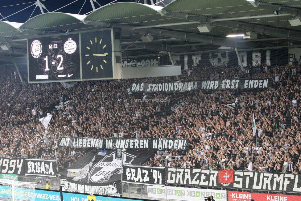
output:
[[[165,184],[165,168],[144,165],[123,165],[122,181],[134,184]]]

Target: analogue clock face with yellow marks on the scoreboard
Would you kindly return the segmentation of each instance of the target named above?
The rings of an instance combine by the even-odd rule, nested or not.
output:
[[[113,78],[111,30],[81,33],[82,79]]]

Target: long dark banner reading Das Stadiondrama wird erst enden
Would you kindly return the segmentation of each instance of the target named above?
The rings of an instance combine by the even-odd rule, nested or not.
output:
[[[272,84],[272,79],[216,79],[216,80],[198,80],[190,82],[162,82],[162,83],[147,83],[137,82],[132,83],[129,92],[186,92],[192,90],[244,90],[269,88]]]

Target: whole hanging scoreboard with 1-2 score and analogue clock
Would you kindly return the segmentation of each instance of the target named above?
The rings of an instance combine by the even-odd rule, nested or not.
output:
[[[28,83],[119,79],[118,31],[110,28],[27,39]]]

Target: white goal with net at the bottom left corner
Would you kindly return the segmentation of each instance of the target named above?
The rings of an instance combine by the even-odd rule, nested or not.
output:
[[[0,201],[35,201],[36,183],[0,179]]]

